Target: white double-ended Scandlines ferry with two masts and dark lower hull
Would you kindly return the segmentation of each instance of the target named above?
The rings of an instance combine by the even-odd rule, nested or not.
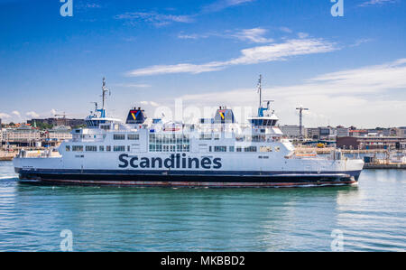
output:
[[[187,124],[151,119],[141,107],[126,121],[103,106],[74,129],[72,139],[32,156],[22,150],[14,169],[22,182],[135,187],[272,188],[357,184],[364,161],[337,150],[327,157],[299,154],[278,126],[271,101],[262,100],[247,124],[219,107],[213,118]],[[249,123],[249,124],[248,124]]]

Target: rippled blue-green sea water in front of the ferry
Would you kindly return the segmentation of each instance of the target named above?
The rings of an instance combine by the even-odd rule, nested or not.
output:
[[[0,251],[406,251],[406,172],[364,171],[358,187],[41,187],[0,163]]]

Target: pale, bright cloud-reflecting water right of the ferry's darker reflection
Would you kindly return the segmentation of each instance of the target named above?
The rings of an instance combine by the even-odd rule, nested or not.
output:
[[[337,223],[351,250],[406,250],[405,171],[365,171],[356,196],[339,194]]]

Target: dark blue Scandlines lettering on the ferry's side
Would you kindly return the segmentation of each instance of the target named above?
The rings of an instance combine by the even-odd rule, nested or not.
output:
[[[186,154],[171,154],[170,157],[162,159],[160,157],[138,157],[128,154],[121,154],[118,157],[120,163],[119,168],[125,169],[128,167],[134,169],[221,169],[223,166],[221,158],[204,157],[199,158],[187,157]]]

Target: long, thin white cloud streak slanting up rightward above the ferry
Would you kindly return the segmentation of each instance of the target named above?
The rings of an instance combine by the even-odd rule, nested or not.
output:
[[[249,48],[241,51],[241,56],[230,61],[212,61],[206,64],[181,63],[176,65],[157,65],[148,68],[132,70],[128,76],[149,76],[171,73],[198,74],[208,71],[223,70],[235,65],[248,65],[261,62],[283,61],[291,56],[307,55],[335,51],[334,43],[322,39],[290,40],[287,42]]]

